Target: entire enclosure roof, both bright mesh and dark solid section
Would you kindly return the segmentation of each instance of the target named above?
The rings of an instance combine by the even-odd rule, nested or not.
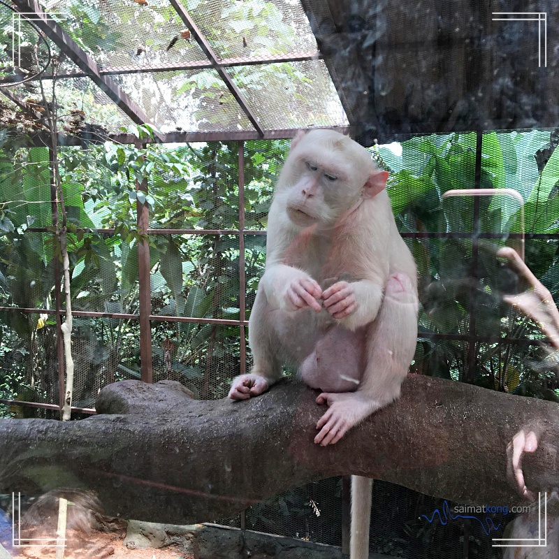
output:
[[[349,124],[370,145],[559,122],[558,3],[2,0],[6,85],[22,69],[10,70],[20,35],[6,2],[59,51],[59,101],[112,133],[150,122],[166,141],[273,138]],[[1,90],[19,103],[32,85]]]

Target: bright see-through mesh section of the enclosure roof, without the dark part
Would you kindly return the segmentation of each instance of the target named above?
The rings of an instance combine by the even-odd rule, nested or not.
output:
[[[39,80],[50,94],[54,73],[57,101],[112,134],[147,122],[166,141],[272,138],[348,124],[299,0],[8,4],[20,15],[0,4],[1,92],[20,105]],[[43,39],[56,64],[31,71]],[[22,72],[34,75],[13,85]]]

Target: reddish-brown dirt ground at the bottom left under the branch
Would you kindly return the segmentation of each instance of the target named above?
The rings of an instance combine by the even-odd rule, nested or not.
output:
[[[162,549],[128,549],[122,544],[124,533],[107,534],[92,532],[89,535],[68,533],[65,559],[194,559],[179,546],[170,545]],[[11,552],[17,559],[55,559],[54,547],[15,548]],[[15,555],[17,553],[17,555]]]

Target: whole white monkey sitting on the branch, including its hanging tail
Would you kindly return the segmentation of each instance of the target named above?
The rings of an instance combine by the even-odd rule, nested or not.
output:
[[[347,136],[299,132],[268,216],[266,271],[249,319],[245,400],[298,368],[328,410],[314,442],[334,444],[400,395],[417,337],[416,267],[398,233],[386,171]],[[368,558],[372,480],[351,489],[351,559]]]

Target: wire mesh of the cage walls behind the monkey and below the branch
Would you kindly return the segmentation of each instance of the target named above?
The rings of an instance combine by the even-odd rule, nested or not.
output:
[[[509,150],[510,154],[511,140],[513,147],[525,143],[525,152],[520,150],[523,164],[528,168],[531,165],[532,173],[535,168],[537,177],[553,151],[550,151],[553,134],[549,131],[486,133],[482,138],[482,155],[491,159],[491,155],[499,150]],[[425,145],[421,142],[432,143],[440,160],[437,159],[435,164],[426,161]],[[539,146],[538,150],[535,145]],[[240,273],[245,275],[245,308],[249,310],[266,257],[266,235],[261,233],[266,228],[275,169],[284,159],[289,143],[285,140],[245,143],[247,180],[242,188],[245,202],[242,213],[247,233],[242,235],[244,270],[240,268],[241,236],[227,233],[228,229],[235,230],[240,226],[240,189],[235,167],[237,144],[220,146],[221,150],[211,143],[154,148],[175,149],[184,159],[188,154],[188,157],[206,161],[199,175],[190,177],[188,173],[170,173],[166,176],[169,199],[175,199],[181,209],[168,212],[150,223],[150,312],[157,316],[157,320],[152,320],[154,380],[178,380],[198,398],[223,397],[230,379],[240,372],[242,328],[235,324],[240,319]],[[520,205],[514,198],[488,196],[479,201],[477,210],[471,196],[442,199],[444,191],[477,184],[475,135],[412,138],[402,142],[400,147],[400,155],[389,153],[386,147],[380,147],[378,154],[379,164],[391,170],[393,178],[389,183],[389,195],[405,242],[419,263],[425,293],[418,351],[412,370],[460,379],[467,368],[467,350],[473,343],[479,370],[475,382],[493,389],[518,391],[524,370],[547,368],[552,371],[554,363],[549,359],[546,361],[542,349],[535,343],[535,340],[543,340],[543,335],[534,325],[525,322],[523,328],[513,333],[514,316],[500,303],[500,296],[514,293],[518,286],[500,266],[495,252],[506,243],[518,243],[524,230],[526,260],[556,296],[559,284],[557,189],[554,185],[539,184],[539,191],[534,192],[533,177],[518,177],[514,170],[507,168],[484,168],[484,157],[481,158],[478,184],[482,187],[512,187],[521,192],[525,200],[525,224],[522,227]],[[76,149],[79,148],[62,150],[61,155],[66,156],[62,158],[63,164],[72,160],[71,150]],[[41,310],[52,310],[52,293],[45,294],[36,280],[52,273],[47,269],[46,241],[50,233],[41,230],[52,221],[46,152],[45,148],[24,148],[10,156],[16,162],[13,173],[20,173],[21,177],[17,177],[18,180],[21,178],[29,200],[38,199],[40,203],[15,208],[16,212],[22,212],[22,217],[33,215],[34,220],[29,222],[31,231],[17,231],[17,242],[11,248],[11,268],[4,274],[9,281],[2,284],[0,298],[5,307],[35,309],[37,312],[3,313],[8,319],[11,316],[27,321],[34,341],[26,345],[24,338],[12,330],[9,323],[2,323],[1,367],[5,368],[9,361],[11,370],[18,370],[8,392],[3,391],[4,398],[57,404],[55,321],[52,314],[44,317],[44,313],[41,314]],[[110,184],[107,169],[100,164],[96,166],[94,161],[88,173],[99,184]],[[402,170],[409,174],[402,174]],[[73,173],[73,190],[67,198],[69,215],[91,228],[106,226],[110,215],[96,213],[91,199],[85,206],[81,204],[82,194],[89,192],[91,185],[78,171]],[[423,175],[434,177],[437,187],[434,191],[418,188],[414,180]],[[3,178],[6,185],[3,195],[6,197],[13,177],[15,175]],[[148,183],[148,190],[161,187],[150,179]],[[256,196],[256,193],[263,196]],[[404,205],[404,193],[408,196],[411,193],[411,204]],[[219,233],[196,233],[197,230],[211,230],[218,224]],[[2,238],[0,242],[6,241]],[[83,293],[83,296],[79,293],[76,296],[74,308],[86,314],[75,318],[73,344],[75,405],[80,407],[92,406],[97,391],[108,382],[139,377],[138,320],[87,317],[87,312],[138,314],[137,249],[135,252],[133,242],[123,242],[110,232],[100,233],[95,242],[101,251],[99,264],[85,266],[85,263],[78,262],[72,275],[73,282],[79,284],[80,293]],[[426,263],[437,270],[435,276],[430,276]],[[35,270],[33,266],[41,269]],[[169,270],[178,271],[178,282],[173,282]],[[475,289],[472,290],[469,280],[464,284],[467,277],[474,277]],[[10,290],[10,282],[22,289]],[[460,302],[458,310],[456,301]],[[477,316],[473,331],[472,314]],[[166,320],[166,317],[190,317],[194,321],[173,321]],[[204,319],[226,319],[233,324],[208,324]],[[246,336],[246,328],[244,330]],[[511,343],[513,334],[517,339]],[[445,335],[461,335],[462,339],[447,340]],[[489,340],[488,336],[493,339]],[[501,340],[502,337],[507,337],[507,341]],[[508,364],[504,370],[499,370],[498,363],[505,351],[509,354]],[[247,368],[249,366],[250,353],[247,351]],[[556,377],[550,375],[546,390],[556,388]],[[47,413],[17,406],[17,403],[8,405],[7,409],[15,416],[45,416]],[[442,558],[463,546],[466,538],[471,556],[499,557],[498,551],[491,549],[491,537],[496,537],[494,532],[487,535],[474,522],[442,525],[437,521],[429,523],[422,516],[425,514],[430,518],[435,509],[442,510],[442,507],[440,500],[376,482],[370,550],[414,559]],[[340,479],[328,479],[284,492],[251,507],[246,519],[247,528],[254,530],[340,545]],[[502,525],[508,521],[510,518],[500,519]],[[238,516],[220,523],[240,525]]]

